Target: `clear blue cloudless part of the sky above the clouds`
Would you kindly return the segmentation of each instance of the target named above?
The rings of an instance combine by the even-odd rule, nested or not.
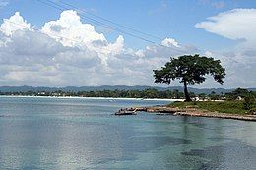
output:
[[[156,35],[162,39],[173,37],[180,43],[193,44],[209,50],[224,49],[235,44],[235,42],[206,32],[204,29],[195,28],[196,23],[234,8],[256,7],[256,1],[253,0],[66,0],[65,2],[97,16]],[[36,27],[41,27],[46,21],[58,19],[60,14],[57,9],[36,0],[12,0],[9,1],[8,6],[1,8],[0,17],[9,18],[16,11],[21,12],[21,15]],[[82,21],[91,23],[84,19]],[[104,32],[112,40],[121,34],[116,31],[108,32],[100,26],[96,26],[96,29]],[[144,41],[129,35],[123,34],[123,36],[128,46],[141,48],[147,45]],[[160,40],[155,41],[160,42]]]

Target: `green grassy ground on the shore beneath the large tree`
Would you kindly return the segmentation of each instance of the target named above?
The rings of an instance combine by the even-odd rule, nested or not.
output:
[[[251,105],[251,111],[245,110],[244,101],[196,101],[196,102],[174,102],[169,107],[178,108],[198,108],[211,112],[231,113],[231,114],[248,114],[252,110],[256,110],[256,102]]]

